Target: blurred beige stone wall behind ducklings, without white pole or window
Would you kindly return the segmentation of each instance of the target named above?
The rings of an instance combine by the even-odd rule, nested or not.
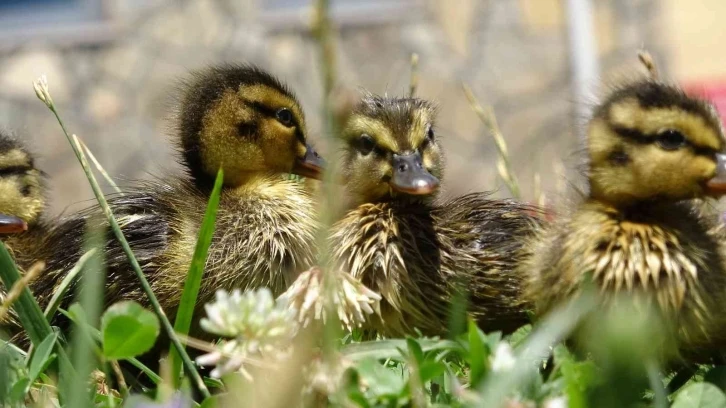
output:
[[[48,75],[69,129],[121,184],[175,171],[169,144],[174,84],[209,63],[251,61],[272,70],[299,94],[311,134],[322,137],[318,59],[303,17],[284,22],[263,3],[234,0],[154,3],[119,13],[111,42],[36,41],[0,53],[0,124],[27,138],[40,156],[54,214],[82,207],[92,195],[52,115],[35,99],[31,82],[41,73]],[[447,193],[507,194],[496,176],[494,144],[462,93],[464,82],[493,105],[525,197],[533,196],[537,173],[552,196],[556,163],[577,164],[563,3],[421,0],[387,18],[341,17],[341,82],[401,95],[408,88],[410,54],[418,53],[419,95],[440,105]],[[604,73],[633,72],[642,45],[667,72],[657,1],[595,3]]]

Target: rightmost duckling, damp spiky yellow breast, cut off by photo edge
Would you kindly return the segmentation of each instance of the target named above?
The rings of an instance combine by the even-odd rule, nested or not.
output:
[[[538,314],[593,282],[604,299],[652,301],[684,351],[723,341],[726,235],[702,199],[726,191],[724,145],[713,106],[676,86],[610,93],[587,127],[589,194],[525,246]]]

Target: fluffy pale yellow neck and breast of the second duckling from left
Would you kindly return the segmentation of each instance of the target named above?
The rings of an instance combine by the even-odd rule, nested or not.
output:
[[[258,174],[223,189],[200,299],[211,299],[219,288],[267,286],[275,295],[282,293],[314,263],[318,226],[313,209],[304,184],[279,173]],[[186,253],[192,245],[185,245],[181,251]]]

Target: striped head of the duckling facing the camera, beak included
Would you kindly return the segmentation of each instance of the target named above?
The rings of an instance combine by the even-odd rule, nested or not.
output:
[[[443,171],[435,115],[422,99],[364,96],[342,132],[342,173],[356,204],[435,196]]]

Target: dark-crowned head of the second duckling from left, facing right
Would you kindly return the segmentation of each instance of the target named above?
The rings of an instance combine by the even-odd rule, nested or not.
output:
[[[223,65],[197,72],[185,86],[178,114],[180,150],[200,186],[210,186],[219,168],[229,187],[260,174],[320,177],[322,160],[307,143],[300,104],[259,68]]]

